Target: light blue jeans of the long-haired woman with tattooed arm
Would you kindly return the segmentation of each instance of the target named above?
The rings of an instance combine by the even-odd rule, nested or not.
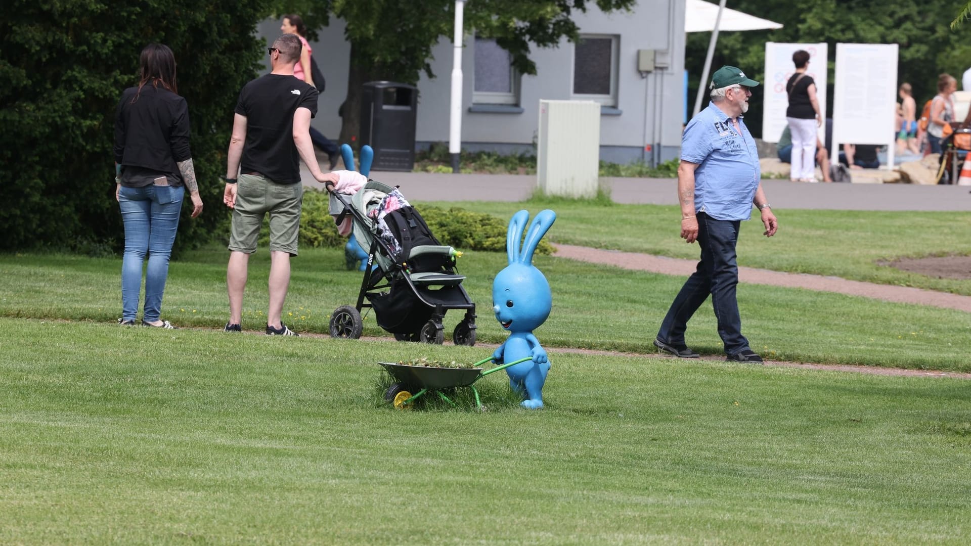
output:
[[[169,256],[179,228],[179,214],[185,188],[147,186],[121,187],[118,205],[124,222],[124,256],[121,259],[121,318],[134,321],[142,288],[142,263],[149,255],[145,272],[145,312],[142,320],[158,320],[169,275]]]

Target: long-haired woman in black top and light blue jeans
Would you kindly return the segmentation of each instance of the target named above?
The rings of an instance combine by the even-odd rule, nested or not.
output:
[[[115,198],[124,222],[118,323],[135,324],[148,254],[142,324],[174,328],[159,314],[185,188],[192,218],[202,212],[202,199],[188,148],[188,107],[176,94],[175,55],[150,44],[140,64],[141,80],[121,93],[115,118]]]

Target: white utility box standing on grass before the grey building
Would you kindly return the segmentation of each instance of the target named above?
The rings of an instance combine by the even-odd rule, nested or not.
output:
[[[549,195],[593,197],[600,169],[600,104],[540,100],[536,174]]]

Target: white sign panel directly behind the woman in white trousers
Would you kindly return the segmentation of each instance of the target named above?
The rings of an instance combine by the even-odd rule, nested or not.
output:
[[[762,140],[765,142],[779,142],[779,137],[786,128],[786,109],[788,108],[788,93],[786,84],[795,73],[792,64],[792,53],[805,50],[809,53],[809,67],[806,75],[816,82],[816,99],[820,103],[820,116],[826,119],[826,84],[827,84],[827,54],[825,44],[779,44],[766,42],[765,44],[765,86],[763,98],[764,113],[762,115]],[[820,127],[820,140],[825,139],[825,123]]]

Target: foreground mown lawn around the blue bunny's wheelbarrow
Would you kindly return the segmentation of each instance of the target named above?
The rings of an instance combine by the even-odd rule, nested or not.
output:
[[[482,353],[0,319],[0,543],[971,533],[967,380],[552,354],[544,410],[402,412],[405,347]]]

